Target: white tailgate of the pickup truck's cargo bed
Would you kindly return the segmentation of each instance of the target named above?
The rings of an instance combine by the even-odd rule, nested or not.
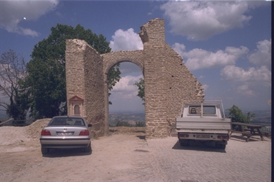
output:
[[[230,130],[231,121],[221,118],[180,117],[176,118],[176,129]]]

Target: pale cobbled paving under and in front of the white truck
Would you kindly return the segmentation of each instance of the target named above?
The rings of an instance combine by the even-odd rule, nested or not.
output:
[[[176,137],[148,140],[149,157],[139,164],[141,181],[271,181],[271,142],[233,136],[225,150],[192,144]],[[141,167],[142,168],[142,167]]]

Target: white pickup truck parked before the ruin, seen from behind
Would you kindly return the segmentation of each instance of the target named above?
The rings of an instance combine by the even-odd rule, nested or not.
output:
[[[220,103],[223,107],[221,100]],[[181,117],[176,118],[176,132],[181,146],[189,146],[191,140],[198,140],[215,142],[217,148],[225,149],[230,130],[231,119],[222,117],[217,103],[183,105]]]

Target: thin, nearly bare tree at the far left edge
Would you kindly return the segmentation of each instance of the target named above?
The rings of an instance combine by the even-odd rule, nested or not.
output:
[[[8,100],[0,100],[6,114],[14,120],[26,119],[29,109],[29,91],[21,87],[21,80],[26,77],[26,64],[21,55],[14,50],[2,53],[0,60],[0,92]]]

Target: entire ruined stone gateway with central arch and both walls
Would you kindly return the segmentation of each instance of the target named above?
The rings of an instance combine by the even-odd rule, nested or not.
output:
[[[203,100],[203,88],[165,41],[164,20],[141,26],[143,50],[100,55],[85,41],[66,40],[68,115],[77,113],[93,124],[93,136],[108,135],[109,70],[124,61],[143,71],[146,95],[146,139],[168,136],[168,120],[175,122],[183,100]],[[75,110],[76,109],[76,110]]]

